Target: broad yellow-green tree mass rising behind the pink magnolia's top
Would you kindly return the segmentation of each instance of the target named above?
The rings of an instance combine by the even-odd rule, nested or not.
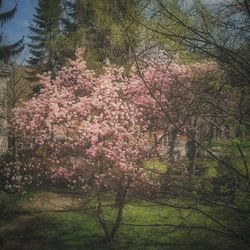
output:
[[[90,66],[98,67],[107,58],[112,63],[127,64],[131,44],[125,29],[133,45],[137,45],[138,25],[130,19],[139,3],[139,0],[67,0],[64,27],[74,40],[72,47],[84,47]]]

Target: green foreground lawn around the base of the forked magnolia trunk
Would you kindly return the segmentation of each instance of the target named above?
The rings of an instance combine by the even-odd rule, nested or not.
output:
[[[191,205],[188,201],[184,203],[177,199],[164,202],[172,205]],[[199,208],[216,216],[226,215],[224,209],[215,210],[201,205]],[[88,212],[93,213],[93,209],[94,203],[89,206]],[[112,220],[114,210],[105,207],[105,216],[106,219]],[[149,224],[152,226],[146,226]],[[160,224],[165,226],[159,226]],[[194,210],[132,200],[125,207],[124,225],[121,226],[113,244],[105,242],[98,221],[84,213],[47,212],[19,224],[15,230],[6,232],[4,249],[244,249],[240,248],[237,242],[228,241],[214,233],[197,229],[180,229],[170,225],[206,226],[218,229],[214,222]]]

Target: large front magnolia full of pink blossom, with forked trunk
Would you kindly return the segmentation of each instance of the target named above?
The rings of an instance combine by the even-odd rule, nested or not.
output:
[[[129,79],[122,69],[108,68],[95,76],[83,53],[70,60],[55,80],[41,77],[43,88],[14,111],[15,131],[33,150],[28,164],[34,178],[83,192],[94,192],[97,216],[112,240],[122,221],[127,192],[148,181],[143,170],[148,142],[142,109],[126,96]],[[112,227],[103,217],[101,193],[116,193],[117,214]]]

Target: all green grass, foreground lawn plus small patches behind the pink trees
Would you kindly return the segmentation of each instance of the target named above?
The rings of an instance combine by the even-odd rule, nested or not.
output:
[[[200,159],[198,164],[206,164],[208,167],[205,176],[215,177],[216,161],[204,161]],[[150,160],[145,167],[156,172],[166,173],[167,163],[159,160]],[[60,191],[60,190],[59,190]],[[33,194],[31,194],[32,197]],[[25,198],[16,199],[15,196],[4,196],[3,202],[9,204],[5,211],[10,216],[16,216],[11,210],[13,204],[27,202],[30,195]],[[244,198],[244,197],[243,197]],[[245,207],[245,199],[239,196],[239,202]],[[8,200],[10,199],[10,200]],[[104,216],[108,221],[115,217],[114,195],[108,193],[102,196],[104,201]],[[15,203],[15,200],[17,201]],[[249,234],[250,218],[237,218],[235,214],[224,208],[215,208],[202,204],[192,203],[181,199],[161,199],[160,202],[178,206],[192,206],[201,208],[203,211],[219,218],[225,225],[235,227],[241,231],[245,238]],[[16,205],[15,205],[16,206]],[[15,207],[14,206],[14,207]],[[90,203],[87,210],[94,214],[96,209],[95,201]],[[18,209],[15,209],[16,211]],[[18,214],[17,214],[18,216]],[[248,216],[249,217],[249,216]],[[249,223],[247,223],[247,221]],[[77,249],[128,249],[128,250],[240,250],[247,249],[240,245],[237,240],[222,237],[218,233],[201,230],[197,227],[222,230],[216,223],[198,213],[195,209],[177,209],[171,206],[158,206],[147,201],[129,199],[129,204],[124,210],[124,224],[121,226],[117,239],[114,243],[107,243],[104,240],[103,230],[98,221],[81,212],[46,212],[35,215],[31,220],[18,224],[16,229],[9,230],[2,236],[5,250],[11,249],[35,249],[35,250],[77,250]],[[4,222],[0,222],[0,226]],[[150,225],[150,226],[149,226]],[[192,228],[188,228],[192,227]],[[1,235],[1,234],[0,234]],[[1,240],[1,238],[0,238]],[[0,241],[1,244],[1,241]],[[1,246],[0,246],[1,249]]]

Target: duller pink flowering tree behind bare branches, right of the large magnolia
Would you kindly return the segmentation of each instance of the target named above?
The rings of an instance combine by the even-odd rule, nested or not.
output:
[[[177,135],[185,136],[186,157],[190,163],[182,172],[192,177],[197,142],[202,144],[204,138],[213,136],[210,131],[221,129],[221,124],[225,124],[216,115],[223,112],[221,104],[232,106],[227,101],[227,91],[215,91],[217,85],[225,82],[224,72],[214,62],[179,65],[161,56],[158,62],[156,58],[137,66],[139,72],[131,76],[127,95],[143,110],[156,146],[164,136],[168,137],[168,174],[176,163]]]

